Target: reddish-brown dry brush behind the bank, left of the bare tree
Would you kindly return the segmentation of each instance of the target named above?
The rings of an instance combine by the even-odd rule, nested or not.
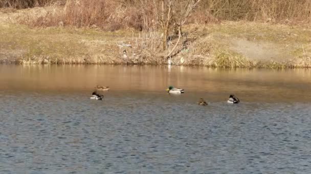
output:
[[[127,6],[120,1],[106,0],[67,0],[61,11],[50,10],[37,18],[28,18],[24,24],[31,26],[76,26],[101,28],[104,31],[117,31],[134,28],[152,28],[152,7]]]

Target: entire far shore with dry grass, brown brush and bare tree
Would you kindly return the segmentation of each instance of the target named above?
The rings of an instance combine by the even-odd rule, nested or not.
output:
[[[310,68],[310,10],[308,0],[4,0],[0,62]]]

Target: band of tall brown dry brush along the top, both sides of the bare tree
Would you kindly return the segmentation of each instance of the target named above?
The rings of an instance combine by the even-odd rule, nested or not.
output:
[[[18,5],[21,2],[27,2],[15,1],[19,2],[12,6],[16,8],[21,6]],[[38,4],[51,4],[56,0],[28,1],[36,2],[32,3],[30,6],[32,7],[38,6]],[[154,8],[153,0],[66,0],[65,2],[63,10],[57,11],[57,13],[55,10],[51,10],[48,14],[31,18],[26,23],[39,27],[58,25],[98,27],[104,31],[116,31],[121,28],[134,28],[143,31],[159,28],[157,10]],[[310,9],[311,1],[309,0],[202,0],[190,16],[188,24],[205,24],[221,20],[285,24],[309,23],[311,22]]]

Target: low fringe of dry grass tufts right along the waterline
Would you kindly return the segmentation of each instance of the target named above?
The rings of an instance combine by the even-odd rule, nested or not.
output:
[[[45,56],[20,57],[15,63],[20,65],[40,65],[40,64],[113,64],[113,65],[163,65],[163,59],[152,57],[151,52],[141,51],[138,54],[131,54],[127,60],[117,57],[66,57],[63,59],[50,60]],[[175,57],[176,58],[176,57]],[[192,56],[186,57],[186,62],[182,65],[206,66],[212,68],[311,68],[311,57],[298,57],[286,62],[257,62],[241,55],[233,55],[228,52],[220,52],[214,57]],[[175,62],[179,60],[175,59]]]

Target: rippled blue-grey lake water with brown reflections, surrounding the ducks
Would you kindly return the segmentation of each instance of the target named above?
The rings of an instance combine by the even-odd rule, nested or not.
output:
[[[304,69],[0,65],[0,173],[309,173],[310,89]]]

